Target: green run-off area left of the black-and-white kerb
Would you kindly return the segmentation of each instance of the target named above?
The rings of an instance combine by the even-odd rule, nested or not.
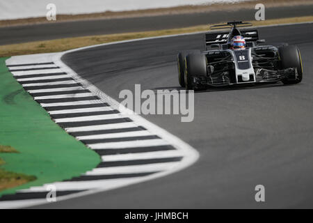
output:
[[[2,163],[5,161],[0,179],[16,178],[22,185],[1,191],[0,197],[70,179],[96,167],[99,155],[51,121],[45,109],[8,72],[6,59],[0,58],[0,144],[10,146],[0,146]],[[5,188],[11,183],[9,180]]]

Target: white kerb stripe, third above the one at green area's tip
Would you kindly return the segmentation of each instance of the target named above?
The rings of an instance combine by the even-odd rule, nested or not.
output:
[[[114,123],[107,125],[89,125],[89,126],[81,126],[74,128],[65,128],[66,132],[89,132],[89,131],[97,131],[97,130],[117,130],[123,128],[136,128],[138,125],[127,122],[127,123]]]

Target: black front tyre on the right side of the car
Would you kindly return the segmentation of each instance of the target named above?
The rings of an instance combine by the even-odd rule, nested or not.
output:
[[[283,79],[284,84],[298,84],[303,78],[303,66],[300,50],[295,45],[288,45],[279,48],[282,69],[297,68],[298,79]]]

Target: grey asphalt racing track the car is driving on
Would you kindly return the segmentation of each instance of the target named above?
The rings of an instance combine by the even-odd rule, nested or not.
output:
[[[268,43],[297,45],[303,82],[195,93],[195,119],[145,116],[196,148],[177,174],[40,208],[313,208],[313,24],[259,29]],[[115,98],[123,89],[180,89],[176,54],[201,49],[202,35],[84,49],[63,56],[81,77]],[[255,186],[265,186],[264,203]],[[38,208],[38,207],[37,207]]]

